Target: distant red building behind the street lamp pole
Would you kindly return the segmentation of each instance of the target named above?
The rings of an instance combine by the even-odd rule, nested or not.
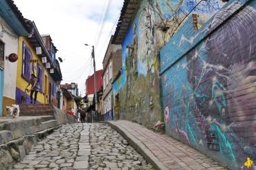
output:
[[[100,87],[103,85],[102,81],[102,71],[103,70],[98,70],[96,71],[96,85],[97,85],[97,92],[100,90]],[[89,96],[90,94],[94,94],[94,74],[89,76],[86,79],[85,82],[85,87],[86,87],[86,95]]]

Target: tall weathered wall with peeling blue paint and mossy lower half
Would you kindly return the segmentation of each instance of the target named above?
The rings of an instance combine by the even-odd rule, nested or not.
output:
[[[122,74],[113,83],[114,117],[147,127],[163,121],[159,51],[191,15],[203,25],[220,8],[219,1],[143,0],[122,41]],[[118,109],[117,109],[118,108]]]

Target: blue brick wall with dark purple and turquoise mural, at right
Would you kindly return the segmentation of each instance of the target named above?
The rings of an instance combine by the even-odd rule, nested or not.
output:
[[[230,1],[199,30],[193,24],[161,50],[165,129],[247,169],[247,158],[256,161],[256,1]]]

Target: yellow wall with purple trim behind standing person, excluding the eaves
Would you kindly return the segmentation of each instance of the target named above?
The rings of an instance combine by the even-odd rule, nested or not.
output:
[[[25,88],[30,83],[30,74],[35,74],[40,84],[37,103],[47,103],[48,71],[42,63],[42,58],[36,54],[33,45],[24,36],[19,37],[18,56],[16,103],[30,103],[30,94],[25,94]]]

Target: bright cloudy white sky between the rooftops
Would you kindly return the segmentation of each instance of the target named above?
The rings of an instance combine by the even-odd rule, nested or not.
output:
[[[61,57],[63,60],[60,63],[62,84],[78,83],[79,94],[84,96],[86,78],[93,74],[92,47],[84,43],[95,45],[96,70],[101,70],[110,36],[116,30],[115,23],[119,19],[123,0],[14,1],[23,16],[35,22],[40,34],[51,35],[58,50],[56,58]],[[109,16],[100,34],[100,23],[109,2]]]

